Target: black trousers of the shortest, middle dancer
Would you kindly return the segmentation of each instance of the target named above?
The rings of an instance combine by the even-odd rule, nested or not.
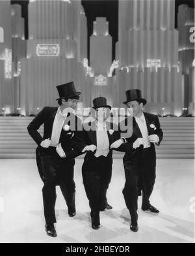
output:
[[[112,177],[112,157],[85,157],[82,174],[92,212],[104,210],[107,204],[107,189]]]

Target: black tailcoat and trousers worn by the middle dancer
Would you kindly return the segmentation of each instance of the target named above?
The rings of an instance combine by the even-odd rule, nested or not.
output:
[[[88,125],[91,126],[93,124],[90,122]],[[107,122],[107,127],[110,127],[107,135],[109,145],[111,145],[120,138],[120,131],[116,131],[117,128],[113,123]],[[85,146],[91,144],[97,146],[96,131],[78,131],[72,138],[73,148],[80,152],[82,152]],[[97,213],[99,210],[105,209],[107,204],[106,192],[112,175],[112,150],[110,150],[107,157],[96,157],[94,156],[95,153],[96,151],[86,152],[82,173],[90,208]]]

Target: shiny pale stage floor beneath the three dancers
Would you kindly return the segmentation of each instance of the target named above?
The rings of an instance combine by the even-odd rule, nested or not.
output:
[[[151,204],[159,215],[138,209],[139,231],[129,229],[130,216],[122,195],[122,159],[114,159],[107,197],[112,210],[101,212],[94,231],[81,176],[83,159],[75,164],[77,215],[70,218],[57,187],[57,238],[45,234],[42,182],[35,159],[0,159],[0,242],[194,242],[194,160],[158,159]],[[191,202],[190,202],[191,200]],[[194,206],[195,208],[195,206]]]

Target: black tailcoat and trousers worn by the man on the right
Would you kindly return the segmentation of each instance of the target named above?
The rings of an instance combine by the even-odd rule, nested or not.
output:
[[[154,114],[144,113],[148,135],[159,136],[160,145],[162,140],[162,129],[158,116]],[[127,118],[124,120],[127,124]],[[136,223],[137,220],[137,197],[142,191],[142,208],[147,208],[149,205],[149,197],[153,191],[155,184],[155,167],[156,153],[155,145],[151,143],[151,147],[143,149],[143,146],[133,149],[133,143],[137,138],[142,138],[142,133],[138,124],[133,118],[132,135],[126,138],[127,143],[122,144],[118,151],[125,152],[123,157],[123,165],[125,168],[125,187],[123,195],[127,208],[130,210],[131,220]]]

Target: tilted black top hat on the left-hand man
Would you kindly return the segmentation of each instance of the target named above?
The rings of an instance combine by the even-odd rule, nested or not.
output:
[[[76,91],[73,82],[61,84],[60,86],[57,86],[57,90],[59,91],[59,99],[67,99],[81,94],[80,92]]]

